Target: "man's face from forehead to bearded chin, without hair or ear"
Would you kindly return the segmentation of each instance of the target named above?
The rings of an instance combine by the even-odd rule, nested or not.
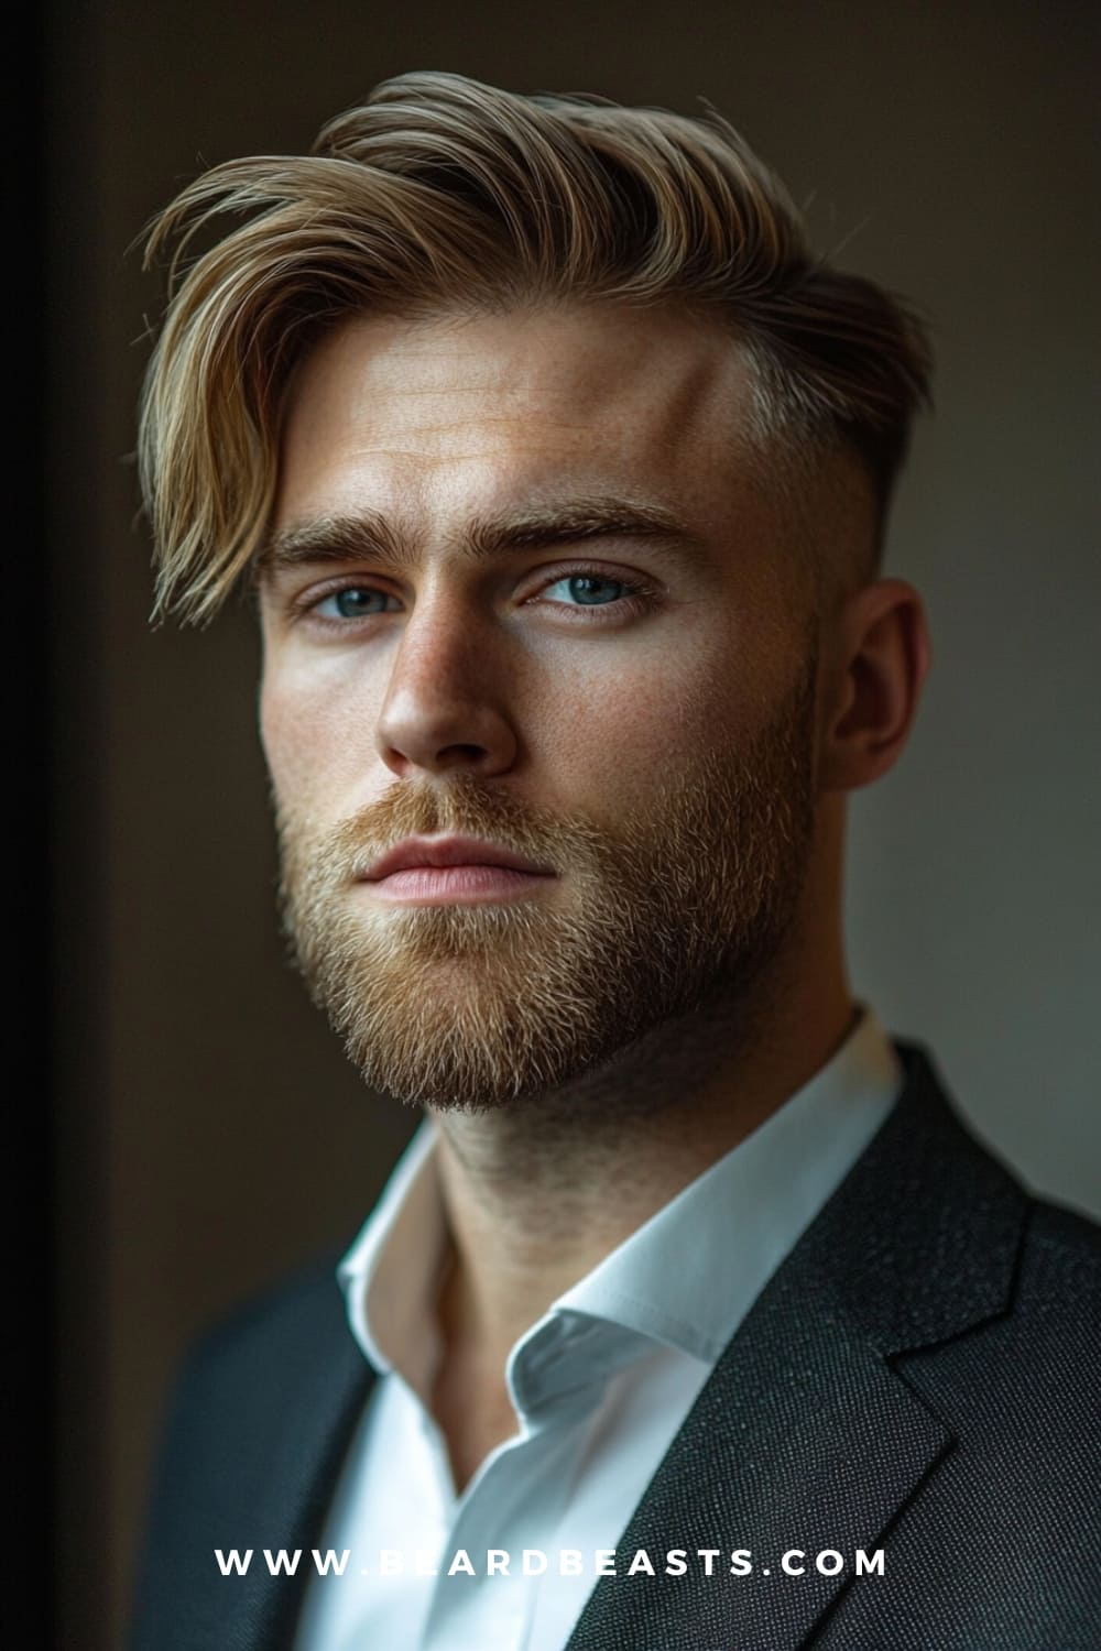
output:
[[[748,406],[659,312],[357,320],[299,368],[262,740],[286,923],[376,1088],[561,1090],[733,1015],[797,925],[815,631]]]

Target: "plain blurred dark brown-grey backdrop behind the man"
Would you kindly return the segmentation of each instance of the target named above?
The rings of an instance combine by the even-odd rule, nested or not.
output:
[[[853,979],[891,1030],[928,1040],[974,1126],[1033,1187],[1098,1212],[1094,12],[46,8],[66,1651],[119,1639],[182,1344],[343,1242],[413,1126],[361,1091],[281,961],[248,613],[205,634],[147,626],[127,454],[162,292],[127,246],[205,165],[300,150],[378,79],[442,68],[683,112],[703,96],[809,203],[822,248],[918,299],[936,325],[939,408],[888,571],[926,594],[936,659],[900,769],[853,807]]]

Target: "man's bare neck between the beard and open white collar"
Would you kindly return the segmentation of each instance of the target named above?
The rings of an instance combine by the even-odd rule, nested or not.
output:
[[[503,1370],[550,1304],[802,1088],[853,1019],[840,939],[824,958],[817,936],[786,953],[751,1004],[657,1027],[569,1090],[436,1113],[454,1242],[446,1355],[477,1349]]]

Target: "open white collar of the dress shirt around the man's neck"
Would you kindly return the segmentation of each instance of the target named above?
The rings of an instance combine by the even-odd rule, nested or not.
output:
[[[523,1388],[525,1354],[543,1365],[558,1341],[584,1346],[598,1364],[601,1346],[611,1365],[640,1341],[715,1364],[900,1088],[898,1057],[865,1005],[809,1083],[553,1303],[513,1347],[510,1382]],[[426,1119],[338,1266],[363,1354],[423,1395],[439,1354],[434,1303],[447,1253],[436,1131]],[[601,1327],[614,1332],[602,1342]]]

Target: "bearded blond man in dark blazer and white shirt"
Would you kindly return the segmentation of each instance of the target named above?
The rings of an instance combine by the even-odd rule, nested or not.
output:
[[[287,934],[426,1123],[338,1284],[191,1359],[135,1646],[1098,1644],[1096,1237],[845,967],[919,324],[716,117],[459,76],[152,253],[215,220],[158,603],[254,581]]]

